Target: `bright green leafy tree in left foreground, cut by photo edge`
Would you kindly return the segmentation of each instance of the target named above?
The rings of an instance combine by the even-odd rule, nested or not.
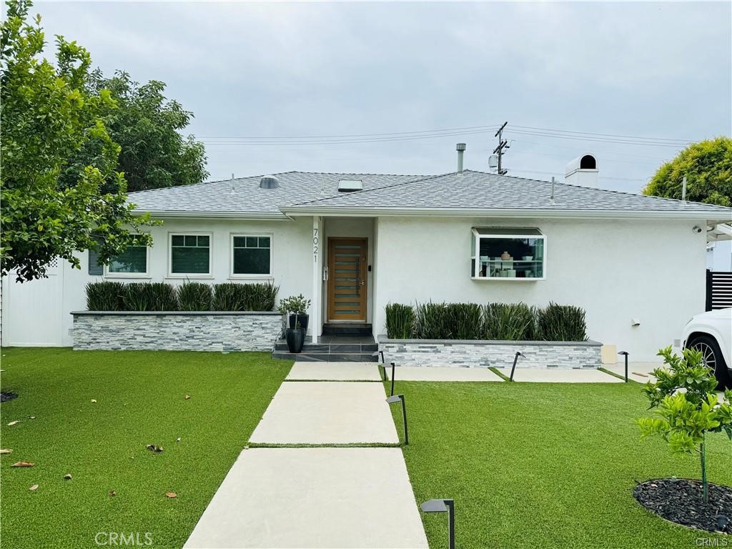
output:
[[[78,268],[75,253],[91,247],[108,261],[148,244],[135,234],[150,223],[125,202],[127,184],[114,170],[119,145],[104,124],[115,101],[108,91],[86,91],[89,52],[59,36],[55,65],[44,59],[40,15],[27,22],[31,5],[7,0],[0,27],[0,274],[14,270],[21,282],[44,277],[55,258]],[[85,148],[96,152],[94,162],[60,184]]]

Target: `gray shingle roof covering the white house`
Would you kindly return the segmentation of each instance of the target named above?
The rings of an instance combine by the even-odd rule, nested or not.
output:
[[[406,213],[419,209],[465,209],[485,212],[698,212],[714,219],[732,219],[732,209],[722,206],[565,183],[555,184],[555,203],[551,204],[550,182],[470,170],[462,175],[437,176],[299,171],[275,176],[280,181],[277,189],[259,188],[261,176],[253,176],[130,193],[129,201],[137,204],[138,211],[160,216],[283,217],[282,211],[305,213],[318,209],[338,209],[344,213],[359,209],[399,209]],[[340,179],[361,179],[364,190],[339,193]]]

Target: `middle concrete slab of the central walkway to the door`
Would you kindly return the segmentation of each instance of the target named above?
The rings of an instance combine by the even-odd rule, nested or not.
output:
[[[396,444],[399,438],[380,383],[285,381],[250,441]]]

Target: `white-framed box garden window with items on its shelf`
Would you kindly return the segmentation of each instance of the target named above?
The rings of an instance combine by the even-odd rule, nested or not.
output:
[[[475,280],[545,280],[546,236],[537,228],[474,227]]]

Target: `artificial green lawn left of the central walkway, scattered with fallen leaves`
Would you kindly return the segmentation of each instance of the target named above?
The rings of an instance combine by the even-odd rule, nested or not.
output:
[[[291,364],[266,353],[4,348],[2,389],[20,396],[0,405],[0,445],[12,448],[0,456],[2,546],[97,547],[97,532],[140,532],[144,543],[149,532],[154,548],[181,547]],[[10,468],[17,461],[35,466]]]

